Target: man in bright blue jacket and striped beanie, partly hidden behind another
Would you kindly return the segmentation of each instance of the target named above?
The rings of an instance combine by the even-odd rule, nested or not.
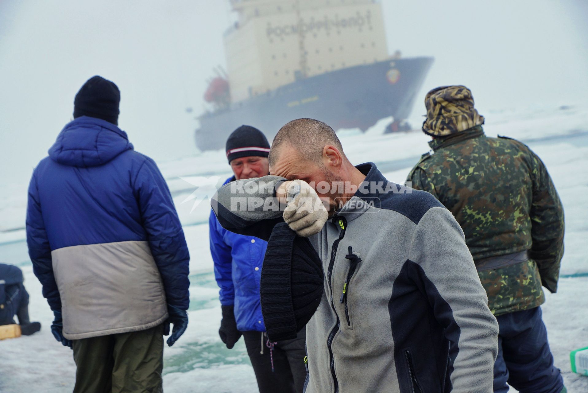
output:
[[[225,184],[269,174],[269,143],[258,129],[242,125],[226,141],[234,176]],[[306,378],[305,332],[269,342],[261,313],[259,280],[268,242],[227,231],[214,212],[209,219],[211,254],[220,287],[220,339],[231,349],[241,335],[260,393],[302,393]]]

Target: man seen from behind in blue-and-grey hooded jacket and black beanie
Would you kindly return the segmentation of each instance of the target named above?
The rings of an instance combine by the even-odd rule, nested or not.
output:
[[[188,326],[182,227],[155,162],[118,128],[119,101],[89,79],[29,185],[29,256],[51,331],[74,349],[74,393],[161,392],[163,335]]]

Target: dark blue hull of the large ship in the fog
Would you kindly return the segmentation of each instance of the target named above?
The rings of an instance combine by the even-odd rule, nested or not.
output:
[[[387,116],[402,121],[410,115],[432,63],[430,57],[393,59],[300,79],[200,116],[196,146],[201,151],[223,148],[242,124],[259,128],[271,140],[281,126],[298,118],[318,119],[335,130],[362,131]]]

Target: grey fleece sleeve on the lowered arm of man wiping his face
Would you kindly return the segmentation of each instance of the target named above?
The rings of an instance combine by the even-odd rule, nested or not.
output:
[[[451,237],[460,237],[463,242],[445,241]],[[493,375],[487,370],[496,360],[498,342],[489,338],[497,337],[498,325],[488,312],[486,291],[462,228],[449,210],[431,208],[425,213],[415,229],[409,259],[423,269],[450,305],[460,328],[459,352],[451,374],[452,392],[492,392]]]

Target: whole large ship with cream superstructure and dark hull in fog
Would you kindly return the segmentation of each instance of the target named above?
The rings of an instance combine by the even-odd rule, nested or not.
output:
[[[432,63],[388,54],[379,1],[230,4],[238,18],[224,35],[226,74],[218,72],[205,95],[212,110],[199,118],[201,149],[219,148],[241,124],[273,136],[303,116],[333,128],[365,130],[391,115],[398,123]]]

